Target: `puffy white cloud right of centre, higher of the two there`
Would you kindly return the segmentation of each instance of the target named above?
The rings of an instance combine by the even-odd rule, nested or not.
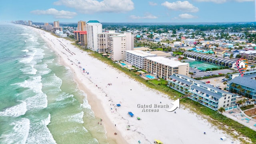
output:
[[[198,12],[199,9],[188,1],[176,1],[176,2],[164,2],[162,6],[165,6],[169,10],[180,10],[182,12]]]

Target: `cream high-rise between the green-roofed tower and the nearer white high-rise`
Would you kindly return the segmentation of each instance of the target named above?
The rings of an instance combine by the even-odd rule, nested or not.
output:
[[[100,54],[110,52],[110,36],[118,36],[122,33],[116,33],[115,30],[109,30],[98,34],[98,52]]]

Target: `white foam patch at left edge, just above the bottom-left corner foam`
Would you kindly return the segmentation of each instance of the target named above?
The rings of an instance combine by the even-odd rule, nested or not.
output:
[[[4,109],[2,112],[0,112],[0,116],[18,117],[26,114],[26,111],[27,111],[26,102],[21,101],[21,103],[16,106],[12,106]]]

